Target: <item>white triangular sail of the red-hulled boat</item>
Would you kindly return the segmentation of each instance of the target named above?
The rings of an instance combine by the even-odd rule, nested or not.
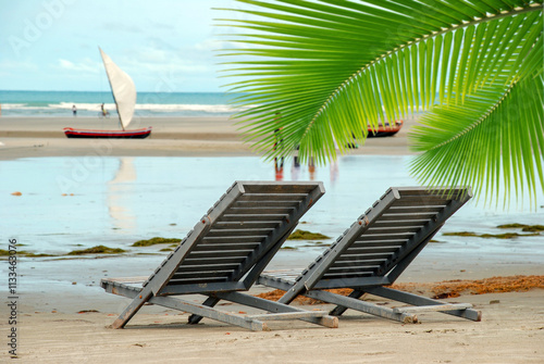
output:
[[[102,55],[106,73],[110,80],[113,99],[118,105],[119,118],[124,129],[133,121],[134,108],[136,105],[136,87],[131,76],[113,63],[110,57],[101,49],[100,54]]]

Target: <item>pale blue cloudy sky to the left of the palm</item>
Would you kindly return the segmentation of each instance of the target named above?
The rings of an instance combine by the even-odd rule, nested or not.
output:
[[[0,89],[102,90],[108,80],[98,46],[138,91],[221,91],[220,58],[227,43],[212,8],[233,0],[2,1]]]

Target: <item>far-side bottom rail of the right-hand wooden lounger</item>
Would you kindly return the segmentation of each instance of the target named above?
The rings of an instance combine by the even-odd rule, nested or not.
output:
[[[412,304],[415,306],[422,306],[422,305],[437,305],[437,304],[444,304],[445,302],[438,301],[438,300],[433,300],[426,297],[421,297],[408,292],[403,292],[398,291],[396,289],[391,289],[391,288],[385,288],[385,287],[373,287],[373,288],[366,288],[364,289],[367,292],[380,297],[387,298],[390,300],[395,300],[398,302],[404,302],[408,304]],[[453,310],[453,311],[441,311],[442,313],[453,315],[453,316],[458,316],[471,321],[482,321],[482,312],[473,309],[463,309],[463,310]]]

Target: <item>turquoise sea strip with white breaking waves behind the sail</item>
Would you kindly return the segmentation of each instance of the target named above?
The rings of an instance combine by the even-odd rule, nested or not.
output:
[[[136,116],[230,116],[236,110],[231,96],[221,92],[138,92]],[[100,105],[116,114],[111,92],[98,91],[7,91],[0,90],[5,116],[96,116]]]

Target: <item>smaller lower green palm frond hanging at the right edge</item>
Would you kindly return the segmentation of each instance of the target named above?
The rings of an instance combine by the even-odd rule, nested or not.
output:
[[[543,80],[542,75],[527,77],[498,100],[484,88],[462,105],[423,115],[411,133],[412,148],[424,153],[412,161],[411,171],[428,185],[475,186],[477,196],[503,200],[505,206],[510,190],[519,198],[527,188],[534,197],[539,184],[544,186]],[[503,199],[499,191],[505,191]]]

